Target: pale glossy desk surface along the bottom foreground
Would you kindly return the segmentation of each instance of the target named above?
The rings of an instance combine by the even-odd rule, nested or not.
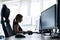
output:
[[[51,39],[50,36],[44,36],[41,34],[32,34],[25,35],[26,38],[15,38],[15,36],[11,36],[9,38],[1,39],[1,40],[60,40],[60,39]]]

